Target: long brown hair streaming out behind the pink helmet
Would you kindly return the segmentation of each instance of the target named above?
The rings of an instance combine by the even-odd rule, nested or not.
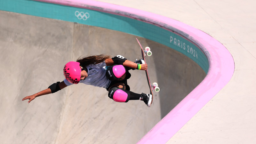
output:
[[[84,58],[80,56],[76,61],[79,62],[82,67],[85,68],[90,64],[98,64],[109,58],[111,58],[111,56],[106,54],[100,54],[100,55],[94,55],[94,56],[87,56]]]

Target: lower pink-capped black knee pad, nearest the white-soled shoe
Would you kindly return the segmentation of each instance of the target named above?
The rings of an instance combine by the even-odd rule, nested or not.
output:
[[[130,91],[115,86],[109,89],[108,97],[116,102],[128,102],[131,96]]]

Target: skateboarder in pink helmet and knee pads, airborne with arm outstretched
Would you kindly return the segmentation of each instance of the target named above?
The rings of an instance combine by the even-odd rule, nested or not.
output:
[[[147,70],[147,68],[148,65],[144,60],[132,62],[121,55],[113,58],[105,54],[78,58],[64,66],[63,74],[66,78],[64,81],[53,83],[47,89],[22,100],[29,100],[29,103],[38,96],[57,92],[72,84],[84,83],[106,88],[108,97],[116,102],[143,100],[150,107],[152,95],[131,92],[127,84],[127,79],[131,77],[129,70]]]

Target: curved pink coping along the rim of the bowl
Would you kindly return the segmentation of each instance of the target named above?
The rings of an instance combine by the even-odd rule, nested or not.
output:
[[[203,106],[211,100],[231,79],[235,64],[232,55],[216,39],[201,30],[193,28],[180,21],[161,15],[145,12],[124,6],[108,4],[91,0],[37,0],[55,4],[68,5],[79,8],[92,9],[122,15],[154,24],[156,26],[171,26],[189,35],[198,42],[209,60],[209,71],[204,80],[159,121],[138,143],[166,143],[180,130]],[[96,8],[95,8],[96,7]],[[101,10],[97,9],[101,8]],[[130,16],[124,15],[130,13]]]

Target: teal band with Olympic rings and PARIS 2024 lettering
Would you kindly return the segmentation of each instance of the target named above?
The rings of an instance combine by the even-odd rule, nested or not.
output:
[[[132,18],[32,0],[0,0],[0,10],[76,22],[144,37],[185,54],[194,60],[205,73],[209,69],[206,56],[193,43],[171,31]]]

